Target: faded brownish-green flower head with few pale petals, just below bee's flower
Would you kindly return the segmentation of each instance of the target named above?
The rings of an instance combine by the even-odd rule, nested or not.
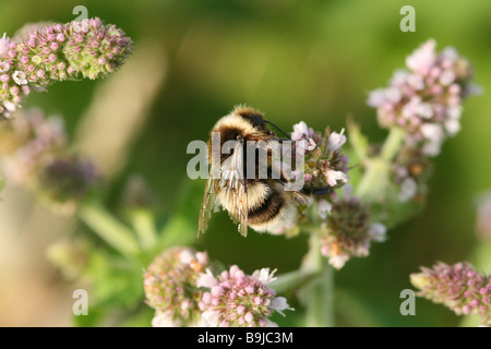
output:
[[[330,214],[322,224],[321,253],[330,264],[340,269],[352,257],[369,255],[372,241],[385,240],[385,227],[372,222],[370,213],[358,197],[351,196],[351,186],[343,188],[343,197],[331,204]]]

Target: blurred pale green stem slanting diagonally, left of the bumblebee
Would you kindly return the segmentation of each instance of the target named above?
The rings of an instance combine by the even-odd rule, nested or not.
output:
[[[132,231],[103,207],[85,205],[81,208],[80,218],[121,254],[132,257],[139,253],[139,244]]]

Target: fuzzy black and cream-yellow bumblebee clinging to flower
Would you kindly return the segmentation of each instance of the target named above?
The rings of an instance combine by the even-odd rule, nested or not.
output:
[[[282,170],[278,170],[279,176],[272,176],[275,159],[271,153],[275,152],[270,153],[268,149],[277,151],[282,142],[289,141],[289,135],[277,128],[287,139],[278,137],[270,124],[277,128],[259,110],[239,106],[212,129],[207,144],[211,170],[200,210],[199,233],[206,231],[213,212],[217,212],[220,205],[228,210],[244,237],[248,227],[259,232],[278,233],[296,222],[298,206],[309,203],[310,194],[327,193],[327,189],[310,192],[286,190],[290,183],[288,176]],[[214,147],[214,136],[219,147]],[[229,152],[224,152],[227,142],[231,146]],[[263,168],[260,168],[261,157],[248,160],[251,148],[246,144],[251,143],[254,145],[252,152],[264,151],[267,154]]]

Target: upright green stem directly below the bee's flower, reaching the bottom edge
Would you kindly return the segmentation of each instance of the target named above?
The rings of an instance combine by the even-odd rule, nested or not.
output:
[[[333,268],[321,254],[321,243],[315,232],[310,234],[310,246],[301,270],[308,275],[316,273],[300,292],[306,305],[306,326],[332,327],[334,325]]]

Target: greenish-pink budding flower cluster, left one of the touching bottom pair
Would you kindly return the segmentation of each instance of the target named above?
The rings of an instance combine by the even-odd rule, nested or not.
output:
[[[189,248],[172,248],[152,262],[143,277],[146,303],[156,310],[154,327],[200,325],[196,280],[207,266],[207,254]]]

